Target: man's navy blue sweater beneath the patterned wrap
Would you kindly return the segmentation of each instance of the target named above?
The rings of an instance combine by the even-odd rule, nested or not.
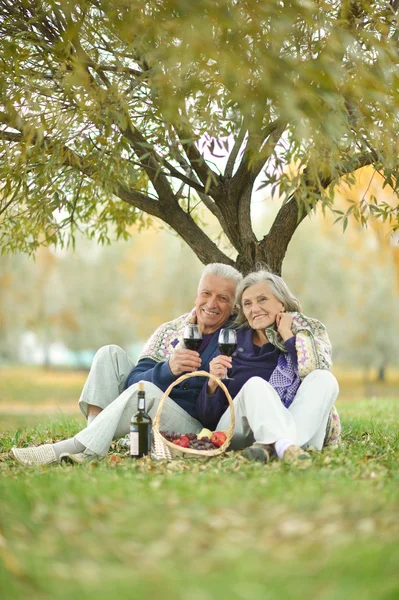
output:
[[[218,336],[219,331],[216,331],[216,333],[202,337],[202,343],[198,352],[202,361],[201,370],[203,371],[209,371],[210,361],[219,353]],[[173,375],[168,361],[155,362],[150,358],[144,358],[139,360],[130,373],[126,381],[126,387],[128,388],[134,383],[144,380],[151,381],[151,383],[164,392],[178,377],[180,375]],[[197,396],[205,381],[208,381],[205,377],[190,377],[176,385],[170,393],[170,398],[197,420],[200,420],[197,412]]]

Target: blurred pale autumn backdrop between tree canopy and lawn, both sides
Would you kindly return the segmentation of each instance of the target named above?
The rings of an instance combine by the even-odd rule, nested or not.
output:
[[[341,188],[336,208],[364,194],[389,201],[367,168],[357,185]],[[256,194],[255,231],[268,229],[281,201]],[[394,395],[399,363],[399,246],[388,224],[312,213],[297,230],[283,277],[303,312],[324,322],[343,395]],[[204,226],[211,227],[212,223]],[[217,234],[217,232],[215,232]],[[41,248],[35,257],[0,257],[0,366],[87,370],[104,344],[135,360],[162,322],[190,310],[203,266],[179,238],[155,220],[128,241],[76,248]],[[1,372],[1,371],[0,371]],[[23,371],[22,371],[23,372]],[[1,388],[0,388],[1,391]]]

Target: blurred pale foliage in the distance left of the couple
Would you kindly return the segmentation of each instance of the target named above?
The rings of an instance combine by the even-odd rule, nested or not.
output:
[[[40,355],[50,364],[54,343],[77,363],[105,344],[136,358],[159,323],[192,308],[202,268],[177,236],[153,228],[129,244],[98,247],[78,234],[74,251],[0,256],[0,364]]]

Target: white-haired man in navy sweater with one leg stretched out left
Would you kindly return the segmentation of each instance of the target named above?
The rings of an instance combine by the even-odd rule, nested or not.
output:
[[[147,412],[154,417],[167,387],[182,373],[209,370],[217,354],[221,327],[234,314],[234,297],[241,274],[228,265],[212,263],[205,267],[191,313],[164,323],[151,336],[136,366],[118,346],[105,346],[94,357],[79,400],[88,426],[74,438],[31,448],[12,448],[11,455],[21,464],[57,464],[61,460],[83,463],[106,456],[113,439],[126,435],[137,410],[137,383],[145,381]],[[198,352],[182,347],[187,323],[197,321],[202,332]],[[203,378],[192,377],[175,386],[162,410],[162,427],[172,431],[197,433],[197,396]]]

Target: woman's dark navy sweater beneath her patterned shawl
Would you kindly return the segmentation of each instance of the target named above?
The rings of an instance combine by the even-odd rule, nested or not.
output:
[[[239,329],[237,331],[237,352],[233,356],[233,366],[229,371],[229,377],[233,379],[223,381],[232,398],[238,394],[244,383],[251,377],[261,377],[269,381],[277,366],[280,350],[270,343],[256,346],[253,343],[252,336],[252,329]],[[289,338],[284,345],[295,363],[297,363],[295,337]],[[207,393],[207,385],[208,381],[205,381],[201,393],[198,395],[197,412],[204,427],[213,431],[229,403],[220,387],[217,388],[214,394],[210,395]]]

